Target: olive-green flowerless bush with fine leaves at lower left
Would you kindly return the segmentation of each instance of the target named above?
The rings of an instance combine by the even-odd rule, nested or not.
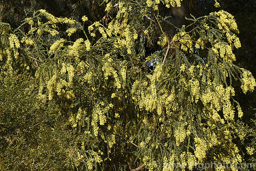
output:
[[[0,169],[71,169],[72,132],[56,103],[41,103],[27,74],[3,76],[0,89]]]

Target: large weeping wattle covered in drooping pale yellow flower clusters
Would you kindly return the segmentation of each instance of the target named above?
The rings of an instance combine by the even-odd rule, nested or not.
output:
[[[256,84],[233,64],[241,46],[234,17],[191,15],[177,28],[162,9],[180,0],[102,3],[107,14],[116,12],[109,22],[83,16],[82,24],[39,10],[15,30],[0,23],[2,74],[30,73],[38,100],[68,116],[73,167],[172,170],[164,166],[186,163],[192,170],[197,161],[242,162],[246,128],[237,122],[243,112],[232,84],[241,82],[244,93]],[[172,38],[166,25],[177,29]],[[155,51],[146,55],[145,47]]]

